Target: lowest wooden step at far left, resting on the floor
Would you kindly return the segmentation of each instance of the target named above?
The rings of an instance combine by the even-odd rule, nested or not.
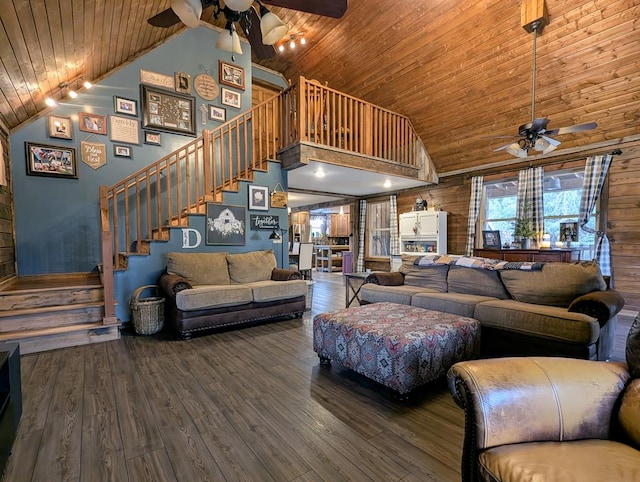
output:
[[[118,340],[119,338],[119,325],[103,325],[102,322],[0,333],[0,341],[11,341],[20,344],[21,355],[70,346],[102,343]]]

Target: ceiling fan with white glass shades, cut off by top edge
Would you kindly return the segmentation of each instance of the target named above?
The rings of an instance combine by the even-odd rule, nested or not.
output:
[[[242,53],[235,27],[239,23],[256,56],[269,59],[276,54],[273,44],[287,34],[289,27],[265,4],[333,18],[340,18],[347,11],[347,0],[224,0],[222,3],[220,0],[171,0],[170,8],[147,21],[154,27],[169,28],[182,22],[195,28],[202,10],[214,7],[214,18],[223,14],[226,19],[225,31],[220,32],[216,47]]]

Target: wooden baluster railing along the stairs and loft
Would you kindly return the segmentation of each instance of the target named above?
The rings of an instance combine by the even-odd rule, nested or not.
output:
[[[214,130],[204,130],[162,159],[113,186],[100,187],[105,319],[115,317],[113,272],[144,240],[165,239],[225,189],[252,180],[284,147],[312,142],[418,166],[424,146],[409,120],[300,77],[297,84]]]

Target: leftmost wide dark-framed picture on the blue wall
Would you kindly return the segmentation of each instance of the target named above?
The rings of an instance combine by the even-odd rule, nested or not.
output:
[[[24,144],[27,151],[28,175],[78,179],[75,148],[34,142]]]

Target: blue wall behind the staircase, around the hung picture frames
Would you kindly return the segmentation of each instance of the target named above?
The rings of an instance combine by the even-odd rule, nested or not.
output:
[[[251,108],[252,75],[265,76],[264,80],[287,84],[277,76],[252,69],[250,46],[242,43],[244,53],[235,55],[217,50],[214,45],[218,31],[204,26],[187,29],[161,46],[146,53],[134,62],[125,65],[112,75],[95,83],[75,100],[65,99],[47,115],[15,130],[10,137],[12,152],[12,177],[15,205],[15,235],[17,252],[17,272],[19,275],[87,272],[95,270],[101,263],[100,220],[98,190],[102,185],[110,186],[127,175],[155,162],[165,154],[193,140],[192,137],[161,133],[161,146],[143,143],[142,113],[140,102],[140,70],[174,76],[175,72],[185,72],[193,80],[196,75],[207,72],[218,79],[218,60],[238,65],[245,70],[246,89],[242,93],[242,109],[222,105],[220,96],[213,101],[200,98],[195,89],[191,95],[196,99],[195,124],[197,134],[203,128],[212,129],[220,123],[207,120],[201,124],[198,108],[212,104],[227,110],[227,120]],[[86,79],[93,80],[93,79]],[[238,89],[230,88],[239,91]],[[240,91],[239,91],[240,92]],[[78,129],[78,113],[89,112],[104,116],[114,115],[114,96],[133,99],[138,102],[140,121],[140,144],[131,144],[132,158],[113,156],[113,142],[108,135],[96,135]],[[69,116],[73,123],[73,139],[63,140],[48,136],[48,115]],[[108,119],[107,119],[108,124]],[[80,159],[80,142],[105,144],[106,165],[93,169]],[[29,176],[26,174],[25,142],[74,147],[77,154],[78,179]],[[117,142],[116,144],[123,144]],[[279,165],[271,165],[270,174],[280,180]],[[286,183],[280,182],[286,186]],[[274,183],[275,184],[275,183]],[[269,184],[273,187],[274,184]],[[244,188],[243,188],[244,189]],[[238,194],[230,204],[247,204],[246,192]],[[286,214],[286,213],[285,213]],[[285,216],[286,223],[286,216]],[[247,236],[247,245],[240,251],[259,249],[262,240]],[[134,264],[135,262],[132,261]],[[129,271],[132,271],[131,269]],[[141,277],[143,277],[141,275]],[[154,276],[151,276],[155,279]],[[138,286],[137,279],[129,282]],[[126,285],[127,283],[125,283]],[[121,303],[124,298],[121,297]]]

